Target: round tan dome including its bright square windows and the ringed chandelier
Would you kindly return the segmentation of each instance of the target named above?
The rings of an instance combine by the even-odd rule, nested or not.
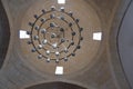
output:
[[[101,21],[93,8],[79,1],[42,1],[25,11],[19,30],[23,62],[42,75],[68,76],[79,75],[96,61]]]

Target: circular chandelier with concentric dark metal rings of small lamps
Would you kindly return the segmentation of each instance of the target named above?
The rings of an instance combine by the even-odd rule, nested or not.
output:
[[[33,17],[35,20],[29,22],[31,29],[27,34],[30,34],[28,44],[33,47],[31,52],[37,52],[38,59],[44,59],[47,62],[54,60],[59,63],[60,60],[68,61],[75,57],[83,40],[83,28],[72,11],[66,12],[63,7],[57,10],[52,6],[49,11],[42,10],[40,16]]]

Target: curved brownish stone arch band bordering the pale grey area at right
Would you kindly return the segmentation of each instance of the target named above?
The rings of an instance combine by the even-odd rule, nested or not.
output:
[[[120,57],[119,50],[119,34],[121,30],[121,26],[123,23],[123,19],[131,6],[132,0],[123,0],[120,3],[120,8],[115,13],[114,21],[111,27],[110,38],[109,38],[109,52],[110,52],[110,66],[112,76],[115,82],[115,86],[120,89],[131,89],[131,85],[126,78],[122,60]]]

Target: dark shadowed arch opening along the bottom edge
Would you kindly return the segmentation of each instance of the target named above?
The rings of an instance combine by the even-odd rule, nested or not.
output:
[[[35,85],[25,89],[86,89],[78,85],[66,83],[66,82],[47,82],[41,85]]]

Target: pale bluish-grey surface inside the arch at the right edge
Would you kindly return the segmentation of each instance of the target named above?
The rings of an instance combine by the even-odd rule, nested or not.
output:
[[[133,50],[132,50],[132,39],[133,39],[133,1],[130,3],[127,11],[122,20],[119,36],[117,36],[117,50],[121,59],[121,63],[125,76],[133,88]]]

